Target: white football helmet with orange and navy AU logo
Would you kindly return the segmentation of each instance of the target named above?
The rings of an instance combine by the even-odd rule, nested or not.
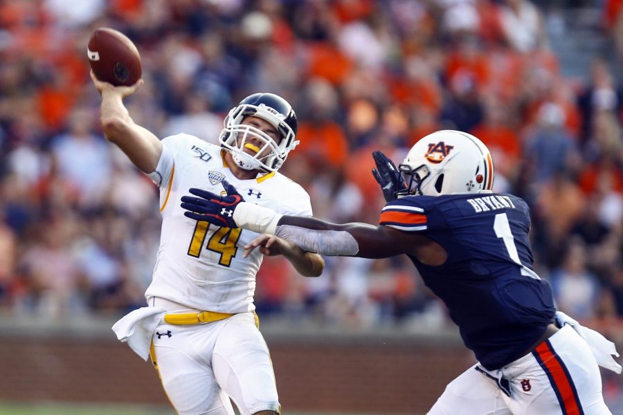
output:
[[[491,191],[494,166],[487,146],[471,134],[435,131],[413,145],[399,165],[408,187],[398,196]]]

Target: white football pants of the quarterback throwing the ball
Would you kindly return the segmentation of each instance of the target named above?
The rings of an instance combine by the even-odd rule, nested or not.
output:
[[[207,324],[162,322],[153,339],[156,369],[181,415],[280,412],[273,366],[253,313]],[[153,359],[153,357],[152,357]]]

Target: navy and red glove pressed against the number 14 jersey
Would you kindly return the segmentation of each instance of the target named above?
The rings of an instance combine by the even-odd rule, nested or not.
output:
[[[188,210],[184,212],[184,216],[226,228],[237,228],[233,212],[239,203],[244,202],[244,199],[234,185],[229,184],[228,181],[222,181],[222,185],[225,187],[227,196],[192,187],[189,192],[199,197],[182,196],[181,207]]]

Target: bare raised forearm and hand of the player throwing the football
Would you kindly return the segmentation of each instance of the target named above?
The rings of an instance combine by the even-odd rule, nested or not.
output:
[[[162,154],[162,143],[154,133],[136,124],[123,105],[123,98],[134,93],[143,80],[132,86],[113,86],[98,80],[92,71],[91,80],[102,94],[100,121],[107,140],[114,142],[143,172],[153,172]]]

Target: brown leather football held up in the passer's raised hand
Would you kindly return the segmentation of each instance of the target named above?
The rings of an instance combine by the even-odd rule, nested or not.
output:
[[[89,39],[87,57],[98,80],[129,86],[141,79],[141,55],[118,30],[98,28]]]

